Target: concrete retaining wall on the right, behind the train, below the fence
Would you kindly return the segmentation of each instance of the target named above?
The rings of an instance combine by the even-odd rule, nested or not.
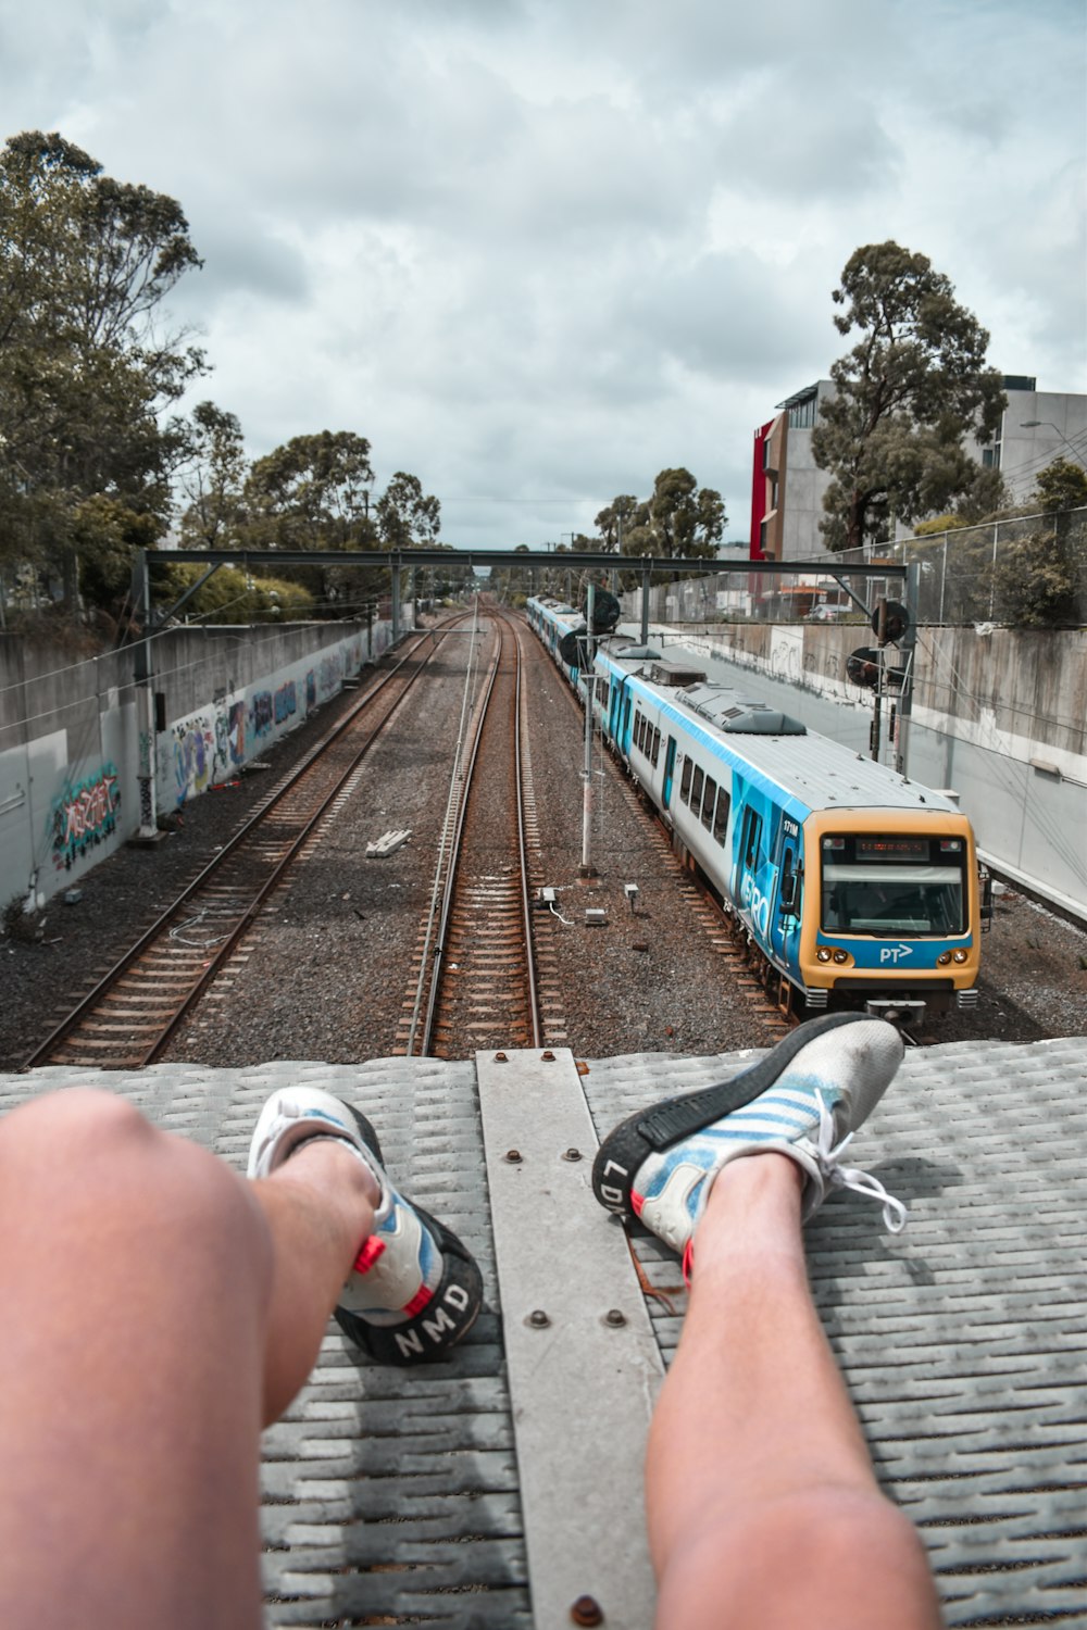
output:
[[[626,631],[637,636],[636,624]],[[650,624],[722,667],[724,683],[869,751],[872,696],[846,678],[864,628],[805,623]],[[906,773],[950,787],[986,859],[1087,918],[1087,632],[918,629]],[[880,758],[891,763],[890,709]]]

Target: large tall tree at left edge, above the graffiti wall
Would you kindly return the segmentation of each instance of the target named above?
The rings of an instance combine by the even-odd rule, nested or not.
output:
[[[0,152],[0,548],[112,593],[111,557],[158,536],[186,437],[160,416],[204,367],[155,329],[200,264],[181,207],[29,130]],[[106,500],[106,507],[91,505]]]

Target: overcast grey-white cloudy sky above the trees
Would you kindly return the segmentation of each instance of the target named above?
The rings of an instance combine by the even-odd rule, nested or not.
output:
[[[539,548],[686,465],[745,538],[755,425],[846,342],[859,244],[1087,391],[1084,0],[0,0],[10,135],[179,199],[194,396],[251,455],[412,471]]]

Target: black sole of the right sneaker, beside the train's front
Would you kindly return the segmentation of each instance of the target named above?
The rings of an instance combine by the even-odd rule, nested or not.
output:
[[[647,1156],[663,1154],[691,1133],[743,1108],[772,1087],[810,1042],[857,1022],[870,1022],[869,1014],[828,1014],[823,1019],[812,1019],[779,1042],[758,1064],[742,1069],[730,1081],[702,1087],[699,1092],[684,1092],[675,1099],[662,1099],[649,1110],[627,1115],[605,1138],[593,1161],[593,1193],[600,1205],[606,1211],[632,1213],[631,1190]]]

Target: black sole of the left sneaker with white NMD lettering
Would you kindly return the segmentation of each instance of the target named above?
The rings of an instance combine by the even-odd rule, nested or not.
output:
[[[376,1131],[360,1110],[350,1104],[347,1108],[355,1118],[362,1141],[385,1167]],[[399,1325],[372,1325],[345,1307],[334,1309],[336,1324],[355,1346],[376,1364],[403,1368],[435,1364],[448,1358],[451,1348],[474,1325],[482,1306],[482,1275],[473,1253],[445,1222],[438,1222],[414,1200],[407,1203],[430,1229],[442,1252],[442,1280],[427,1306]]]

